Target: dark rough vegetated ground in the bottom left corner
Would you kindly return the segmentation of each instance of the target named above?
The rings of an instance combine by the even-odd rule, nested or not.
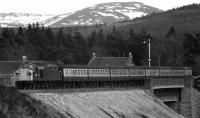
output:
[[[53,107],[19,93],[16,89],[0,86],[0,118],[64,118]]]

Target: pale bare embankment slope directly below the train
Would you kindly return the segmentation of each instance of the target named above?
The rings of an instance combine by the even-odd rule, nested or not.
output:
[[[142,89],[26,92],[66,118],[183,118]]]

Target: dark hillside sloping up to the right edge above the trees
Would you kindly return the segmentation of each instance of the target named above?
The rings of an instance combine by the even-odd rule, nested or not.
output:
[[[113,25],[118,26],[123,31],[132,28],[139,32],[142,28],[145,28],[147,32],[159,36],[159,38],[166,35],[171,26],[180,34],[196,33],[200,31],[200,5],[184,6],[130,21],[114,23]]]

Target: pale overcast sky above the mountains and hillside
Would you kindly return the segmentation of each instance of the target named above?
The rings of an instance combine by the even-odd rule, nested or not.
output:
[[[138,1],[160,8],[172,9],[200,0],[0,0],[0,13],[3,12],[31,12],[45,14],[61,14],[83,9],[99,3]]]

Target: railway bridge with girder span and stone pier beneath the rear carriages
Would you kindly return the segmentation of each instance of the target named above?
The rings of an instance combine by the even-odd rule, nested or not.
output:
[[[148,78],[145,88],[177,113],[192,118],[192,76]]]

